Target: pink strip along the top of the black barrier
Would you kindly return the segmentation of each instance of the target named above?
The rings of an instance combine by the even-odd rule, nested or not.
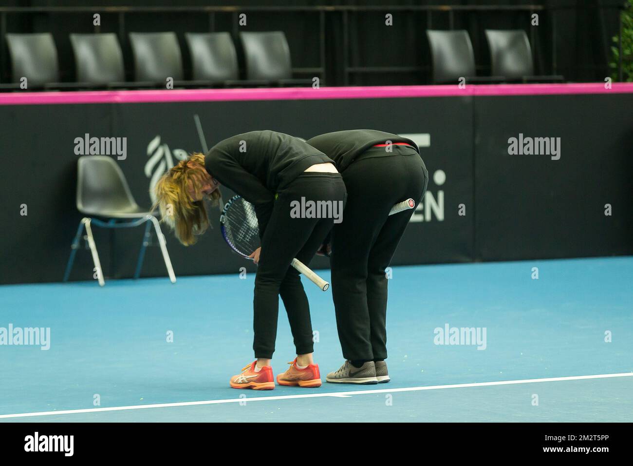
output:
[[[232,100],[377,99],[406,97],[517,96],[633,93],[633,82],[573,84],[468,84],[458,86],[286,87],[270,89],[173,89],[149,91],[0,93],[0,105],[142,103]]]

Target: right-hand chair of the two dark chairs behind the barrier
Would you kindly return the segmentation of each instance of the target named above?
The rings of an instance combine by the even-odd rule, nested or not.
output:
[[[486,39],[493,75],[503,76],[505,81],[563,81],[560,75],[534,75],[532,48],[524,30],[486,29]]]

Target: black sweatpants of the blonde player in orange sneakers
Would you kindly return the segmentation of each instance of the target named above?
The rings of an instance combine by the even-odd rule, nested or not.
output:
[[[345,185],[339,173],[303,172],[286,188],[277,193],[272,216],[261,240],[260,263],[255,276],[254,342],[256,358],[272,358],[277,337],[279,296],[284,301],[297,354],[313,352],[312,323],[308,297],[303,290],[299,272],[291,266],[294,257],[310,264],[316,250],[334,219],[331,214],[342,213]],[[292,210],[293,201],[300,205],[309,201],[337,203],[329,218],[315,218],[316,211]],[[339,204],[340,203],[340,204]],[[334,204],[330,204],[334,207]],[[296,206],[294,206],[296,207]],[[300,212],[302,217],[291,214]],[[327,214],[328,212],[321,212]]]

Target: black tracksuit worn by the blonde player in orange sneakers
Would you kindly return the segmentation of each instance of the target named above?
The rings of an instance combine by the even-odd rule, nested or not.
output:
[[[313,351],[308,299],[299,272],[290,264],[294,257],[304,264],[310,262],[332,227],[332,219],[291,218],[290,202],[301,197],[344,200],[339,173],[305,171],[311,165],[331,162],[300,139],[274,131],[224,139],[204,159],[206,171],[251,202],[257,214],[261,256],[254,294],[256,358],[270,359],[275,350],[279,295],[288,312],[297,354]]]

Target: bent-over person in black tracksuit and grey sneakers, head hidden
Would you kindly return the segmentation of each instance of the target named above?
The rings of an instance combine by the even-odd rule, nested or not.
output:
[[[396,134],[337,131],[306,142],[334,160],[348,191],[342,223],[332,228],[330,257],[336,322],[347,361],[327,380],[388,382],[385,268],[413,214],[405,210],[389,216],[389,210],[407,198],[418,205],[429,172],[418,146]]]

